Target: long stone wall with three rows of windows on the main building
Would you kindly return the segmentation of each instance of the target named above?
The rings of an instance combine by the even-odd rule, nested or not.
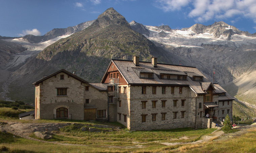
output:
[[[180,127],[191,127],[192,117],[189,107],[192,102],[190,88],[183,87],[182,94],[179,94],[179,87],[174,87],[174,94],[171,94],[171,87],[166,87],[165,94],[162,94],[162,87],[156,87],[156,94],[152,94],[152,87],[146,88],[146,94],[141,93],[141,86],[130,87],[130,130],[153,130],[171,129]],[[173,106],[173,100],[177,99],[177,106]],[[181,99],[185,99],[185,105],[181,106]],[[165,100],[165,107],[162,107],[162,100]],[[146,102],[146,108],[142,108],[142,102]],[[152,101],[156,101],[156,108],[152,108]],[[192,106],[193,107],[193,106]],[[184,118],[181,118],[181,111],[185,111]],[[177,112],[177,118],[173,119],[173,112]],[[152,121],[152,114],[156,113],[156,121]],[[162,114],[165,113],[165,120]],[[142,114],[146,115],[146,122],[142,122]],[[195,113],[192,113],[195,116]]]

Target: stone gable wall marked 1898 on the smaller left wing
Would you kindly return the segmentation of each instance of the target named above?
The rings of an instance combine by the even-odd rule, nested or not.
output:
[[[64,75],[64,80],[60,80],[61,74]],[[40,104],[37,119],[54,119],[56,109],[60,107],[68,108],[70,119],[84,119],[84,84],[68,77],[63,72],[55,76],[40,83]],[[56,88],[67,88],[67,95],[57,96]]]

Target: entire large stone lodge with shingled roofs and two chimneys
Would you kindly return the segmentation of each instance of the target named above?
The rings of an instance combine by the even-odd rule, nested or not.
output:
[[[196,67],[157,63],[154,57],[113,59],[101,83],[62,69],[33,84],[36,119],[118,121],[130,130],[209,128],[213,119],[232,119],[234,99],[220,85]]]

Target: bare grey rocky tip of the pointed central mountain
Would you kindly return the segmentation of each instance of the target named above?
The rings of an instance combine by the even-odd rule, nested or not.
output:
[[[126,21],[125,17],[119,14],[113,7],[108,8],[98,16],[92,26],[100,26],[105,28],[109,25],[124,25],[130,28],[130,24]]]

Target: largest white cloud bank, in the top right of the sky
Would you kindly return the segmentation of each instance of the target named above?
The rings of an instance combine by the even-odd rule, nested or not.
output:
[[[256,22],[256,0],[157,0],[156,7],[165,12],[187,7],[188,17],[197,22],[234,16],[248,17]],[[192,6],[192,7],[191,7]],[[232,20],[235,22],[235,20]]]

